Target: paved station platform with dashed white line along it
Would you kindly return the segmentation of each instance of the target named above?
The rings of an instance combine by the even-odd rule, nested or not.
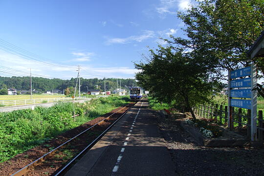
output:
[[[155,112],[141,99],[65,176],[175,176]]]

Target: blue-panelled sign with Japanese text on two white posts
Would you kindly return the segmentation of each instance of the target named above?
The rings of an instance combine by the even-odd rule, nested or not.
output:
[[[248,76],[248,78],[244,78]],[[250,76],[250,77],[249,77]],[[228,70],[228,128],[233,128],[232,107],[251,110],[251,140],[256,140],[257,132],[257,70],[256,64]],[[243,98],[243,99],[241,99]]]

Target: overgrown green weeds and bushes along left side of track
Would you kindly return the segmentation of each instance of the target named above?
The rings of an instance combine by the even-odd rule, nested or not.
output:
[[[15,110],[0,113],[0,162],[49,141],[52,137],[84,124],[127,104],[129,97],[110,96],[75,103],[58,103],[53,107]],[[85,114],[84,112],[87,112]]]

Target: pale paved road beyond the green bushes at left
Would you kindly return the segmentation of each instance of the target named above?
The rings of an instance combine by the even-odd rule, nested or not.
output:
[[[89,101],[91,98],[85,99],[85,100],[77,100],[75,102],[83,103],[85,101]],[[24,106],[12,106],[8,108],[0,108],[0,112],[11,112],[13,110],[24,110],[24,109],[34,109],[36,106],[41,106],[41,107],[52,107],[58,102],[54,103],[45,103],[45,104],[31,104],[31,105],[24,105]]]

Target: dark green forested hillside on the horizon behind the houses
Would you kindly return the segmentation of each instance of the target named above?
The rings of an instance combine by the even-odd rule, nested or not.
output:
[[[47,91],[52,89],[66,89],[69,87],[75,87],[77,78],[71,78],[70,80],[62,79],[47,79],[42,77],[32,77],[32,89],[39,91]],[[116,81],[121,81],[121,87],[125,86],[132,87],[136,85],[134,79],[116,79],[116,78],[107,78],[106,79],[106,89],[113,90],[116,89]],[[88,89],[101,89],[104,90],[104,79],[84,79],[81,78],[81,91],[86,91]],[[0,77],[0,88],[2,85],[6,85],[7,88],[16,88],[18,90],[29,90],[30,89],[30,77]],[[118,83],[120,86],[120,83]]]

